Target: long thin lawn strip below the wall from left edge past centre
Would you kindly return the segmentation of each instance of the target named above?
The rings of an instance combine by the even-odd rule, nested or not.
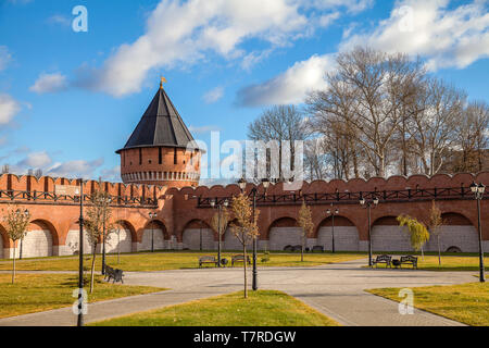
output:
[[[228,258],[230,264],[230,257],[236,252],[225,252],[224,258]],[[121,262],[117,263],[116,256],[108,256],[106,263],[114,268],[124,271],[163,271],[163,270],[179,270],[179,269],[196,269],[199,266],[199,257],[204,254],[216,254],[213,252],[154,252],[154,253],[130,253],[122,254]],[[301,262],[300,253],[272,253],[271,261],[261,262],[262,253],[258,254],[258,262],[260,266],[312,266],[327,263],[342,262],[355,259],[365,258],[365,254],[360,253],[308,253],[304,256],[304,262]],[[251,257],[251,256],[250,256]],[[85,256],[86,266],[91,265],[91,257]],[[17,270],[23,271],[76,271],[78,270],[78,258],[46,258],[40,260],[17,260]],[[102,258],[97,256],[97,270],[101,270]],[[204,265],[213,266],[213,265]],[[242,263],[240,264],[242,266]],[[0,263],[1,270],[11,270],[12,262]]]

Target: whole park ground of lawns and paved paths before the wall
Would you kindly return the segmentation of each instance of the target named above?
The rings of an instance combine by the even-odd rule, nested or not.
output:
[[[256,318],[262,319],[259,325],[278,326],[489,325],[489,288],[477,283],[476,256],[443,256],[440,268],[438,257],[427,254],[419,258],[419,270],[371,270],[364,268],[365,253],[306,253],[304,262],[298,253],[271,253],[266,263],[259,254],[260,288],[269,291],[250,291],[242,300],[237,293],[242,289],[241,266],[198,269],[202,254],[213,253],[122,254],[118,264],[116,256],[109,256],[109,264],[126,272],[125,284],[108,284],[98,276],[87,322],[206,325],[208,318],[215,316],[220,321],[214,325],[255,325]],[[23,271],[15,285],[10,284],[10,266],[0,262],[0,291],[7,295],[0,300],[0,325],[74,324],[67,307],[75,299],[77,258],[18,261]],[[402,287],[414,291],[415,315],[399,314]],[[249,307],[254,311],[247,312]],[[229,313],[238,310],[243,311],[241,319],[231,320],[236,315]],[[24,313],[34,314],[20,315]]]

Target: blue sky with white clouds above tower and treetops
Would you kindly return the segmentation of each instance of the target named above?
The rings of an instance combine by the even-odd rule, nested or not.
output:
[[[72,10],[88,11],[76,33]],[[118,181],[124,146],[159,87],[195,138],[244,139],[274,103],[325,87],[334,54],[421,55],[489,100],[489,1],[0,0],[0,164]]]

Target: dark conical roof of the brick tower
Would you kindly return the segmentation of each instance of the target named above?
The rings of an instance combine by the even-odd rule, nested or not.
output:
[[[163,87],[158,90],[124,148],[116,152],[152,146],[197,148],[192,135]]]

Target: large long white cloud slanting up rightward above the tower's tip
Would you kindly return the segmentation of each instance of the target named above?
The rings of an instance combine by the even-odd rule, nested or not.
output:
[[[88,80],[79,84],[122,97],[138,92],[154,69],[172,69],[201,60],[214,52],[225,59],[248,57],[250,66],[260,53],[249,55],[240,47],[246,40],[260,39],[268,48],[290,44],[319,24],[319,17],[334,9],[360,11],[371,0],[162,0],[150,14],[147,30],[133,44],[117,48],[101,69],[85,69]],[[336,16],[336,15],[333,15]],[[329,17],[331,21],[333,17]],[[325,24],[325,23],[324,23]],[[262,57],[263,58],[263,57]]]

